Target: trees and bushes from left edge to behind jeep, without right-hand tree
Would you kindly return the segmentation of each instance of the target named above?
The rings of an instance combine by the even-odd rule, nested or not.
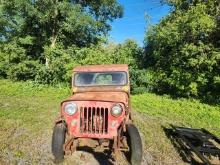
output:
[[[143,51],[137,43],[106,44],[109,23],[122,16],[116,0],[1,1],[0,16],[3,78],[70,83],[76,65],[126,63],[132,89],[143,86],[144,78],[137,74],[144,75],[138,70]]]

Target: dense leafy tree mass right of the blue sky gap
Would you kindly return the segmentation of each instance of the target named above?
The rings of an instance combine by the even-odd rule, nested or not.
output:
[[[154,90],[220,101],[220,4],[168,0],[170,14],[146,34]]]

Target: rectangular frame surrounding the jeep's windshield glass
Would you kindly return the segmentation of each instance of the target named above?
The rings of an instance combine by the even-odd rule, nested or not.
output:
[[[80,73],[124,73],[125,74],[125,79],[126,79],[126,81],[125,81],[125,83],[123,84],[123,85],[117,85],[117,84],[111,84],[111,85],[108,85],[108,84],[101,84],[101,85],[94,85],[94,84],[92,84],[92,85],[81,85],[81,86],[77,86],[76,84],[75,84],[75,77],[76,77],[76,75],[77,74],[80,74]],[[73,72],[73,76],[72,76],[72,86],[75,86],[75,87],[83,87],[83,88],[86,88],[86,87],[99,87],[99,86],[104,86],[104,87],[111,87],[111,86],[126,86],[126,85],[128,85],[128,82],[129,82],[129,80],[128,80],[128,73],[127,72],[125,72],[125,71],[98,71],[98,72]]]

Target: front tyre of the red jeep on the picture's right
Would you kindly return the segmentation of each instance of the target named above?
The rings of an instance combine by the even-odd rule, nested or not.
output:
[[[142,142],[138,129],[133,125],[127,126],[127,140],[130,148],[129,161],[132,165],[140,165],[142,160]]]

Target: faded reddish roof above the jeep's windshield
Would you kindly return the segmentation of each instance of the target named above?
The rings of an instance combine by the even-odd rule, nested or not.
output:
[[[128,72],[127,64],[103,64],[103,65],[83,65],[73,69],[74,72],[103,72],[103,71],[125,71]]]

